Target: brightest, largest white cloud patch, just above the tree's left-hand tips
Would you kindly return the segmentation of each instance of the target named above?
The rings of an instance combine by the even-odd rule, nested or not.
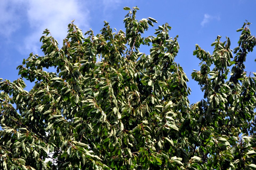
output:
[[[50,30],[59,44],[67,35],[67,25],[76,19],[80,29],[88,29],[89,10],[78,1],[69,0],[30,0],[27,18],[30,28],[34,30],[25,38],[25,48],[38,51],[39,38],[43,30]],[[75,24],[77,24],[75,22]]]

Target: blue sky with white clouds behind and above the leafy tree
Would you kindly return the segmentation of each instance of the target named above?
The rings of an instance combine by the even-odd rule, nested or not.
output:
[[[154,35],[154,29],[166,22],[172,27],[169,35],[179,35],[180,50],[175,61],[189,78],[191,104],[203,98],[198,83],[191,78],[193,69],[200,70],[200,61],[193,56],[195,44],[212,54],[210,45],[217,35],[221,35],[222,41],[226,36],[230,38],[233,49],[240,36],[236,30],[245,20],[252,23],[251,33],[256,35],[256,0],[0,0],[0,78],[11,81],[19,78],[16,68],[24,58],[27,59],[31,52],[43,55],[39,39],[46,28],[59,44],[66,37],[67,25],[73,19],[83,32],[91,28],[94,33],[100,33],[105,20],[112,28],[125,30],[123,19],[128,12],[123,10],[125,6],[140,8],[136,15],[138,20],[151,17],[158,21],[145,37]],[[140,52],[150,53],[149,48],[143,49],[145,51]],[[248,72],[256,72],[255,51],[247,55]],[[26,84],[29,91],[33,83],[26,81]]]

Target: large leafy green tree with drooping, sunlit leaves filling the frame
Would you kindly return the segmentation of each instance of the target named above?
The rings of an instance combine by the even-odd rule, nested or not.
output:
[[[126,32],[104,22],[84,38],[71,22],[61,49],[46,29],[45,56],[31,53],[17,67],[21,78],[1,79],[1,169],[256,169],[256,73],[244,71],[256,44],[250,23],[237,30],[233,53],[221,36],[213,54],[196,44],[202,62],[192,78],[205,99],[190,105],[174,61],[178,36],[165,23],[142,37],[157,21],[124,9]],[[22,78],[35,82],[29,92]]]

